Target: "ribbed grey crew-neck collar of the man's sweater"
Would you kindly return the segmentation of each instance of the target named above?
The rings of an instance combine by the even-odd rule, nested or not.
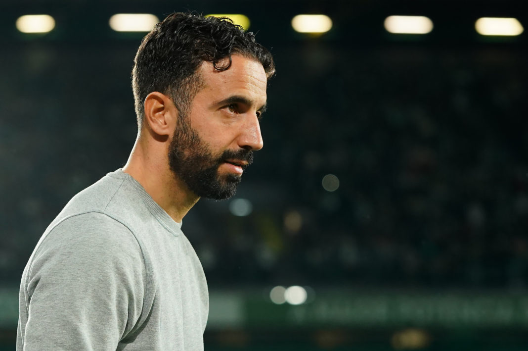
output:
[[[171,216],[169,216],[165,210],[161,208],[161,206],[159,206],[156,201],[154,201],[145,188],[143,188],[142,184],[134,179],[134,177],[123,172],[121,168],[115,172],[108,173],[108,175],[110,175],[110,177],[124,180],[124,183],[133,189],[134,194],[143,200],[143,203],[150,213],[152,213],[159,223],[161,223],[167,230],[169,230],[174,235],[180,235],[182,233],[182,223],[172,219]]]

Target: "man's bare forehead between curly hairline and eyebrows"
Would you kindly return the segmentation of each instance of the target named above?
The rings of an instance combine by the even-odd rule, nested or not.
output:
[[[234,54],[229,69],[219,71],[211,62],[203,62],[200,73],[204,83],[203,93],[243,95],[256,100],[256,103],[266,102],[267,77],[258,61]]]

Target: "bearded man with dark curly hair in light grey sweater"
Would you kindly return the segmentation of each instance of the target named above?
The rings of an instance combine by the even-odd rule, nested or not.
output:
[[[262,148],[271,54],[229,21],[174,13],[140,45],[125,167],[53,220],[22,276],[17,350],[203,350],[209,298],[181,221],[226,199]]]

